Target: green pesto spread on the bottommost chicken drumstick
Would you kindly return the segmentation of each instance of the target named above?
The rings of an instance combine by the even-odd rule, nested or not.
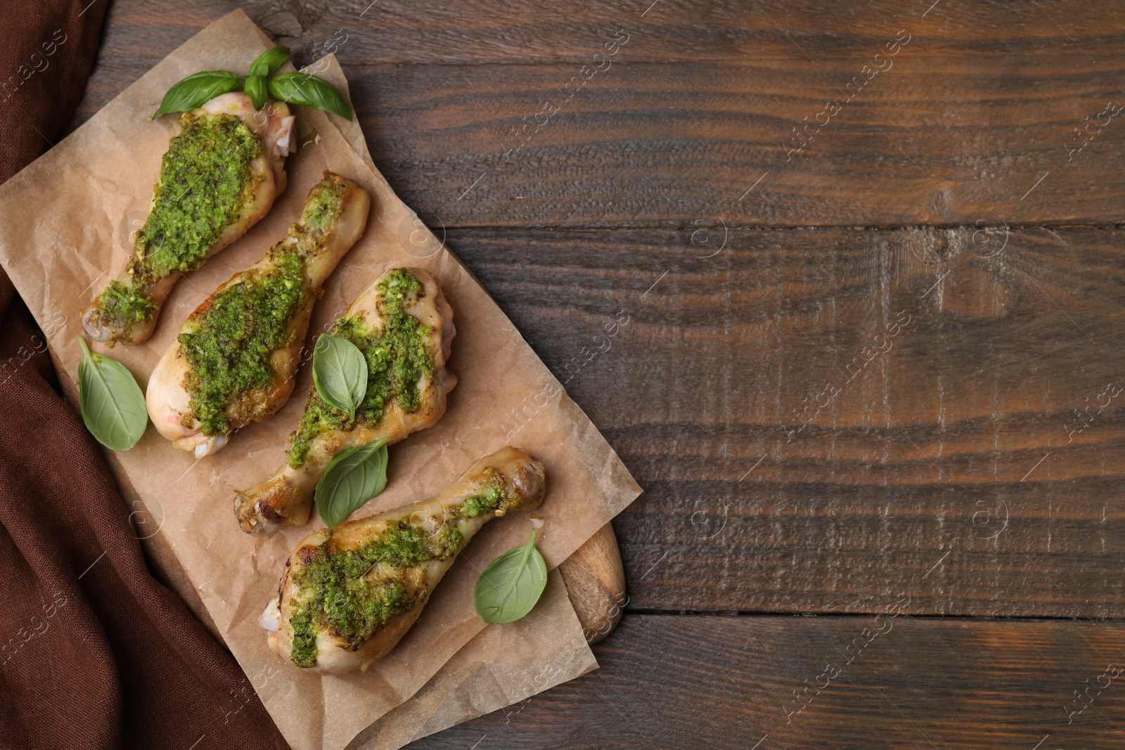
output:
[[[418,603],[425,590],[412,593],[400,573],[380,571],[367,577],[374,566],[405,569],[432,559],[448,559],[460,549],[461,532],[456,516],[449,517],[431,537],[410,523],[392,523],[377,539],[354,550],[339,551],[330,536],[304,557],[294,573],[302,602],[292,625],[290,659],[298,667],[316,663],[316,632],[327,629],[342,639],[343,648],[358,651],[392,617]]]

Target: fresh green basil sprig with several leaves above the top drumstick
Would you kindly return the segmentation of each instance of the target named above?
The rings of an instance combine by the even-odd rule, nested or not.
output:
[[[258,55],[250,63],[250,74],[245,79],[231,71],[192,73],[168,90],[153,117],[196,109],[241,85],[256,109],[264,107],[272,96],[294,105],[335,112],[349,120],[352,118],[351,107],[343,96],[324,79],[308,73],[281,73],[270,78],[287,60],[289,48],[279,46]]]

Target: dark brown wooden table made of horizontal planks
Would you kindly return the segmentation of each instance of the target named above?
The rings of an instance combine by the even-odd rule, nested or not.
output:
[[[414,747],[1125,747],[1125,10],[650,1],[243,6],[646,489],[602,668]]]

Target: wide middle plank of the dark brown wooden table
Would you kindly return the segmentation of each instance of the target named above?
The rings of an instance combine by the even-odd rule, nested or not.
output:
[[[631,607],[1125,616],[1125,233],[447,240],[645,487]]]

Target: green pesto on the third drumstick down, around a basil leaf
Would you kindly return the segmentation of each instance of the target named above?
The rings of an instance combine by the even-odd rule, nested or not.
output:
[[[356,409],[356,422],[350,423],[346,412],[328,405],[310,388],[305,414],[289,436],[289,466],[299,467],[316,436],[327,430],[351,430],[357,423],[377,425],[390,401],[397,401],[406,413],[418,409],[418,381],[434,371],[430,328],[403,307],[422,289],[413,273],[394,269],[378,286],[381,329],[372,331],[359,316],[336,320],[332,333],[356,344],[367,356],[367,395]]]

